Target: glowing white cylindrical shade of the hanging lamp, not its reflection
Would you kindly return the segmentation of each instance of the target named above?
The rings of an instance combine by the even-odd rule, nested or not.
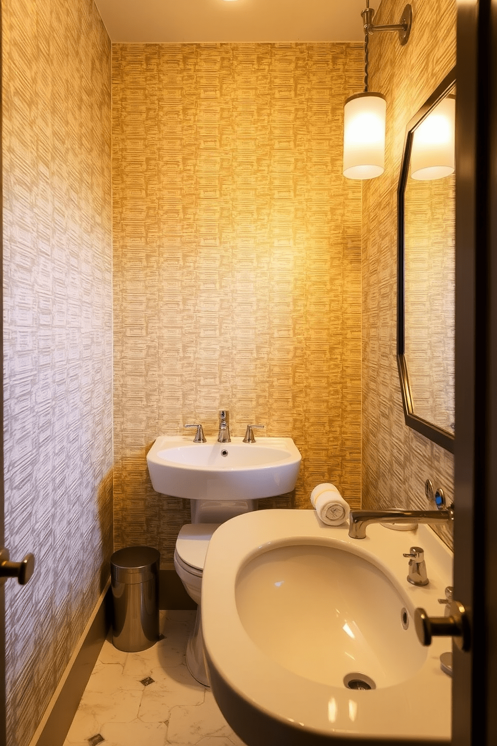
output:
[[[387,102],[381,93],[358,93],[344,107],[344,176],[372,179],[384,172]]]

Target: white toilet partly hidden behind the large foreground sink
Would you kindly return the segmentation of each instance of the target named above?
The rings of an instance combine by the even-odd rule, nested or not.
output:
[[[186,592],[197,604],[193,633],[186,645],[186,665],[191,675],[204,686],[209,686],[203,657],[201,621],[201,589],[203,563],[209,541],[216,528],[235,515],[257,509],[257,500],[191,500],[191,523],[180,530],[174,550],[174,567]]]

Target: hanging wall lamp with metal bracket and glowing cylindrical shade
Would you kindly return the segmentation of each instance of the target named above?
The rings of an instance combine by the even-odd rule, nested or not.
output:
[[[344,176],[373,179],[384,172],[384,130],[387,102],[381,93],[367,90],[369,38],[377,31],[398,31],[404,46],[411,33],[412,8],[406,5],[400,23],[373,25],[374,10],[367,0],[361,17],[364,22],[364,93],[351,95],[344,107]]]

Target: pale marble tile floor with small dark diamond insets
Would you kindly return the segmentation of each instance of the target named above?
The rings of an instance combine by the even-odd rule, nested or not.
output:
[[[160,612],[162,637],[139,653],[104,642],[64,746],[244,746],[185,651],[195,612]]]

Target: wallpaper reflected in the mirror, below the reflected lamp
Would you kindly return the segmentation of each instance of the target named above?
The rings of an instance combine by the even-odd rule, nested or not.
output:
[[[455,175],[405,188],[405,361],[414,412],[454,424]]]

